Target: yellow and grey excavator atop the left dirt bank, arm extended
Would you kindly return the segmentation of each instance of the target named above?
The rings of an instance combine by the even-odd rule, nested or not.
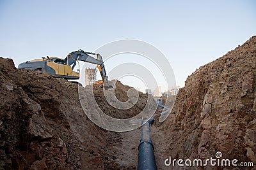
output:
[[[97,59],[90,55],[96,55]],[[67,80],[77,80],[79,79],[79,73],[73,71],[76,66],[77,61],[89,62],[92,64],[97,64],[102,81],[104,82],[104,87],[115,88],[114,85],[108,81],[108,76],[106,74],[106,69],[104,67],[104,62],[99,53],[84,52],[83,50],[77,50],[71,52],[65,57],[65,59],[60,59],[58,57],[42,57],[42,59],[35,59],[19,64],[18,69],[31,69],[33,71],[40,71],[40,73],[45,72],[51,74],[57,78],[65,78]]]

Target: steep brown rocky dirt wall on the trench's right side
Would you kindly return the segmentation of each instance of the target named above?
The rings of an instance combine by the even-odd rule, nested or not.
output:
[[[164,122],[166,158],[256,164],[256,36],[196,69]],[[212,169],[212,167],[204,167]]]

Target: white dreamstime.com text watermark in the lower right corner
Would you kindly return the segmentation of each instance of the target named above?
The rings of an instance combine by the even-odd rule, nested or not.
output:
[[[221,167],[228,167],[228,166],[234,166],[234,167],[253,167],[253,162],[239,162],[237,159],[221,159],[222,153],[216,152],[215,158],[210,159],[173,159],[172,157],[169,157],[169,159],[164,160],[165,166],[221,166]]]

